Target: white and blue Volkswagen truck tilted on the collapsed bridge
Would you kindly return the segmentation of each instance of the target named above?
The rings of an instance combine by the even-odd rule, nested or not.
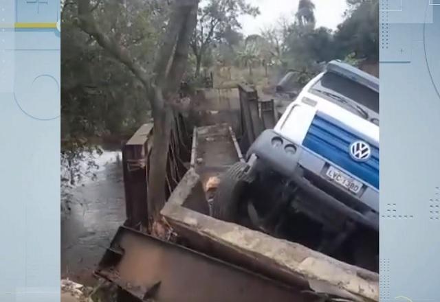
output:
[[[329,62],[223,175],[212,216],[377,271],[379,121],[379,80]]]

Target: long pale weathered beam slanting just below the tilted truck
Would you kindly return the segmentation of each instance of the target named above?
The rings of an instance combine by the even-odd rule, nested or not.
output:
[[[294,242],[216,220],[183,207],[184,203],[170,200],[161,213],[191,248],[289,285],[324,288],[324,292],[337,292],[353,301],[379,301],[377,273]]]

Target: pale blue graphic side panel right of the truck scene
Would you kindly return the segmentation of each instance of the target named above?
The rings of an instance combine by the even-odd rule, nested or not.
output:
[[[403,1],[399,16],[382,10],[391,2],[380,12],[380,299],[439,301],[440,1]]]

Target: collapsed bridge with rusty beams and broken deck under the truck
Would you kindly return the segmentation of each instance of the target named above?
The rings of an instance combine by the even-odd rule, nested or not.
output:
[[[120,287],[120,301],[379,301],[377,273],[210,216],[216,181],[279,117],[274,100],[252,87],[237,94],[239,135],[225,123],[192,128],[176,116],[160,238],[145,231],[152,125],[126,143],[127,220],[96,275]]]

